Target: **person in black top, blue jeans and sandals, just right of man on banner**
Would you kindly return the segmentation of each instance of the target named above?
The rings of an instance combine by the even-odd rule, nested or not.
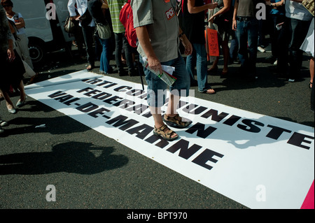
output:
[[[186,69],[190,80],[195,81],[194,71],[197,66],[198,92],[215,94],[208,84],[207,50],[204,37],[204,10],[213,9],[218,3],[204,4],[204,0],[182,0],[183,14],[180,17],[183,31],[193,45],[193,53],[186,59]]]

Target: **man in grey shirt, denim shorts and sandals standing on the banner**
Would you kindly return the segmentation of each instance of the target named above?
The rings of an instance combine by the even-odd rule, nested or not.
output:
[[[171,92],[163,117],[161,107],[165,103],[165,90],[168,86],[158,75],[144,68],[148,84],[147,101],[155,123],[153,133],[173,141],[179,136],[163,121],[176,128],[185,128],[191,123],[176,111],[180,96],[188,96],[190,88],[190,77],[179,52],[179,39],[185,47],[186,55],[193,52],[193,47],[179,27],[176,0],[132,0],[131,6],[139,40],[138,51],[141,57],[148,59],[148,68],[162,73],[162,65],[175,67],[173,75],[177,80],[169,87]]]

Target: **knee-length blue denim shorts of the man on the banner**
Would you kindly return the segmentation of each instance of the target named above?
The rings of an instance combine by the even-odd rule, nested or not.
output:
[[[146,75],[146,82],[148,84],[148,106],[162,107],[165,104],[166,90],[169,90],[172,94],[177,96],[188,96],[190,89],[190,76],[186,70],[186,64],[183,57],[179,55],[176,59],[172,59],[168,62],[162,62],[162,65],[174,66],[175,71],[173,76],[177,78],[174,84],[169,87],[163,80],[158,78],[157,75],[144,68],[144,74]]]

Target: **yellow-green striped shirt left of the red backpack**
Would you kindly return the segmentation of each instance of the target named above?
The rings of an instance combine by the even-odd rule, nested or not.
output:
[[[125,0],[107,0],[109,3],[109,11],[111,13],[111,22],[113,24],[113,32],[120,34],[125,32],[125,27],[119,20],[121,8],[125,4]]]

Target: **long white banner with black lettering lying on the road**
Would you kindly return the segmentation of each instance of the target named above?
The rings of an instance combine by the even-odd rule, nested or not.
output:
[[[248,208],[301,208],[314,181],[314,128],[182,98],[180,138],[153,135],[141,85],[79,71],[27,95]],[[209,201],[211,202],[211,201]]]

